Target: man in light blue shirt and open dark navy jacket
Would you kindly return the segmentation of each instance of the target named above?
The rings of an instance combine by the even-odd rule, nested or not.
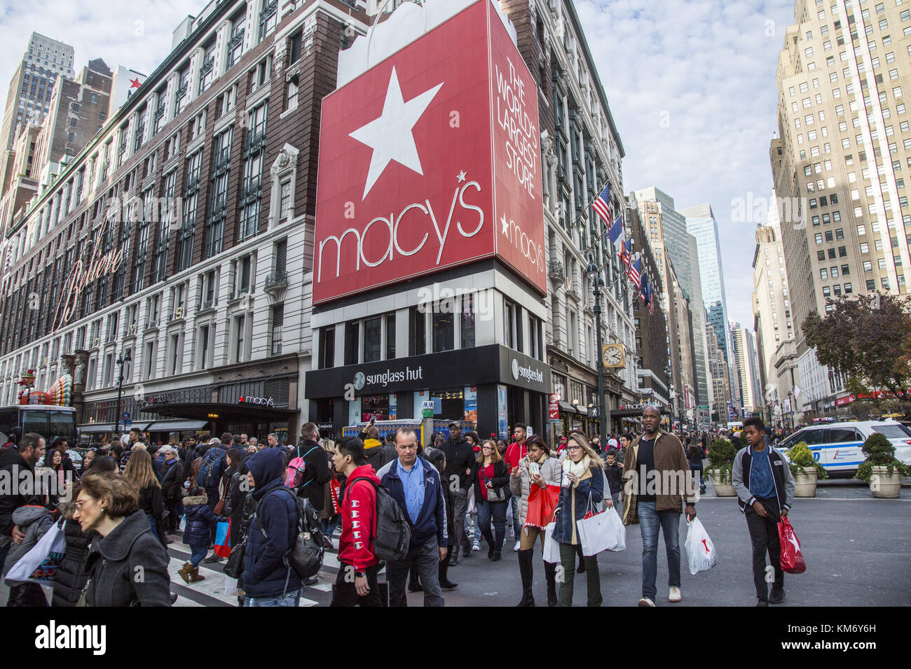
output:
[[[389,603],[408,605],[405,580],[414,564],[424,588],[424,605],[444,606],[439,563],[446,559],[446,506],[440,475],[435,467],[417,457],[417,434],[412,428],[395,432],[395,452],[398,458],[386,464],[378,475],[408,518],[411,547],[403,560],[386,564]]]

